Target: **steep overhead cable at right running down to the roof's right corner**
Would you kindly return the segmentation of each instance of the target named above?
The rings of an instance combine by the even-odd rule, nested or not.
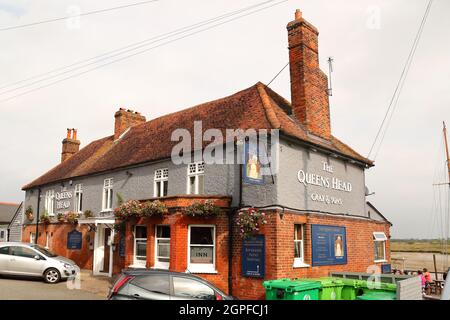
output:
[[[372,144],[372,146],[371,146],[371,148],[370,148],[370,151],[369,151],[369,154],[367,155],[367,158],[370,158],[370,156],[372,155],[372,151],[374,150],[374,147],[375,147],[375,145],[376,145],[376,143],[377,143],[377,141],[378,141],[378,138],[380,137],[380,134],[381,134],[381,132],[383,131],[383,128],[385,128],[385,131],[384,131],[384,133],[383,133],[383,135],[382,135],[382,138],[381,138],[381,140],[380,140],[380,143],[379,143],[379,145],[378,145],[378,149],[377,149],[376,154],[375,154],[375,156],[374,156],[374,160],[375,160],[376,157],[378,156],[378,153],[379,153],[379,151],[380,151],[381,145],[382,145],[382,143],[383,143],[383,141],[384,141],[384,137],[385,137],[386,132],[387,132],[387,130],[388,130],[388,128],[389,128],[389,125],[390,125],[390,123],[391,123],[392,116],[393,116],[394,111],[395,111],[395,109],[396,109],[396,107],[397,107],[397,103],[398,103],[398,100],[399,100],[401,91],[402,91],[402,89],[403,89],[403,86],[404,86],[405,80],[406,80],[406,78],[407,78],[409,69],[410,69],[411,64],[412,64],[412,61],[413,61],[413,59],[414,59],[414,56],[415,56],[415,53],[416,53],[418,44],[419,44],[419,42],[420,42],[420,38],[421,38],[421,36],[422,36],[423,29],[424,29],[424,27],[425,27],[425,24],[426,24],[428,15],[429,15],[429,13],[430,13],[431,6],[432,6],[432,4],[433,4],[433,1],[434,1],[434,0],[429,0],[429,1],[428,1],[427,8],[426,8],[425,13],[424,13],[424,16],[423,16],[423,18],[422,18],[422,21],[421,21],[419,30],[418,30],[418,32],[417,32],[417,34],[416,34],[415,39],[414,39],[412,48],[411,48],[411,50],[410,50],[410,52],[409,52],[408,58],[406,59],[405,65],[404,65],[404,67],[403,67],[403,71],[402,71],[402,73],[401,73],[401,75],[400,75],[400,79],[399,79],[398,82],[397,82],[397,86],[396,86],[396,88],[395,88],[394,94],[392,95],[392,98],[391,98],[391,100],[390,100],[389,106],[388,106],[388,108],[387,108],[387,110],[386,110],[386,113],[385,113],[385,115],[384,115],[383,121],[381,122],[380,128],[378,129],[377,135],[375,136],[375,140],[373,141],[373,144]],[[392,109],[392,112],[390,113],[391,109]],[[389,120],[386,122],[386,120],[388,119],[388,116],[389,116]],[[385,123],[386,123],[386,126],[384,126]]]

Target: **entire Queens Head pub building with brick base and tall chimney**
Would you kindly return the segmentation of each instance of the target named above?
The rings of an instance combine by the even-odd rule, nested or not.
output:
[[[81,150],[77,131],[68,129],[61,163],[23,187],[23,241],[37,241],[94,275],[125,267],[190,272],[241,299],[263,299],[264,280],[388,265],[391,224],[366,202],[365,170],[373,162],[331,133],[318,30],[297,10],[287,31],[291,102],[258,82],[150,121],[121,108],[114,134]],[[201,157],[175,163],[179,141],[172,133],[194,135],[196,121],[202,132],[278,130],[277,170],[260,174],[267,165],[249,156],[250,147],[243,164]],[[238,153],[241,140],[226,142]],[[246,139],[244,145],[250,146]],[[267,155],[274,145],[269,140]],[[114,214],[120,199],[159,200],[167,212],[126,219],[120,230]],[[186,214],[207,200],[218,214]],[[265,214],[266,224],[242,237],[236,219],[253,210]],[[64,219],[67,213],[78,213],[78,223]]]

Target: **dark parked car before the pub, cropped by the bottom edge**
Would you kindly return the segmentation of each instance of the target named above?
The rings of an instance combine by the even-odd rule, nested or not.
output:
[[[110,300],[233,300],[214,285],[189,273],[126,269],[112,286]]]

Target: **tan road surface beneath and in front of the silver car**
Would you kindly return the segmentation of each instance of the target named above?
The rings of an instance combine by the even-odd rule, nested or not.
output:
[[[112,279],[81,270],[75,281],[47,284],[41,279],[0,277],[0,300],[105,300]]]

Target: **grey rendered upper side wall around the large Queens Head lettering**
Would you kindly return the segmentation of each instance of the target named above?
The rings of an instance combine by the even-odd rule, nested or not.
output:
[[[367,215],[365,213],[364,169],[347,161],[315,152],[287,141],[280,141],[280,168],[277,183],[278,202],[288,207],[318,210],[331,213]],[[334,173],[323,170],[323,162],[333,166]],[[323,177],[339,178],[352,184],[352,191],[345,192],[299,182],[299,170]],[[342,199],[343,204],[327,204],[313,201],[312,193]]]

